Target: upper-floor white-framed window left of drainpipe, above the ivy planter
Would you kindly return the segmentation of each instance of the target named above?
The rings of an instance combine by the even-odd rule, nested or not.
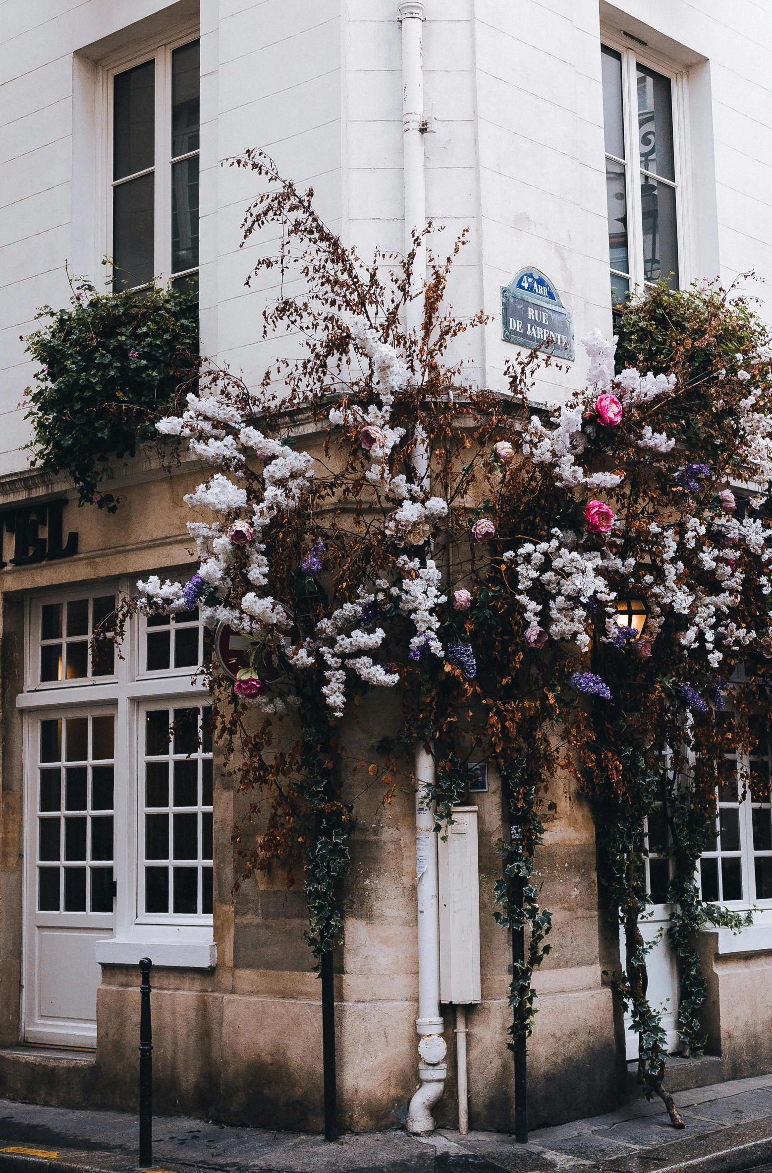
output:
[[[114,287],[198,274],[199,42],[112,74]]]

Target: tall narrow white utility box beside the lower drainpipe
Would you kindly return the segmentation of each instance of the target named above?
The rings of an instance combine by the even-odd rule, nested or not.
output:
[[[480,1001],[480,888],[477,807],[453,807],[437,835],[439,879],[439,1001]]]

